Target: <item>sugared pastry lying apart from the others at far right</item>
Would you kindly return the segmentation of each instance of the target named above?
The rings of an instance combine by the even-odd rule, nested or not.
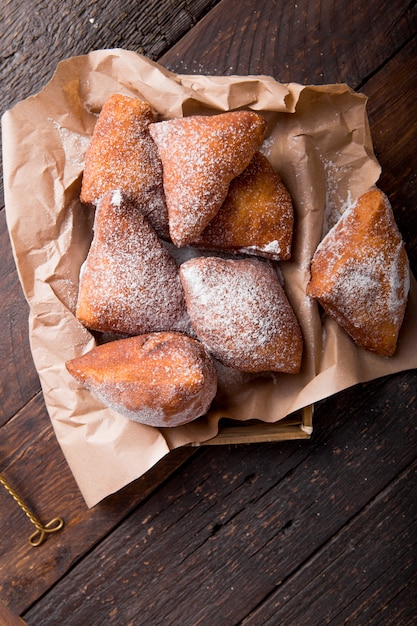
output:
[[[359,346],[395,353],[410,288],[407,254],[387,196],[363,194],[318,246],[307,294]]]

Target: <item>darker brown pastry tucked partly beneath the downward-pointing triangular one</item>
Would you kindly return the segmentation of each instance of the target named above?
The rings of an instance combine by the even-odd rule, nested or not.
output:
[[[261,152],[234,178],[226,199],[193,245],[283,261],[291,256],[294,210],[280,176]]]

